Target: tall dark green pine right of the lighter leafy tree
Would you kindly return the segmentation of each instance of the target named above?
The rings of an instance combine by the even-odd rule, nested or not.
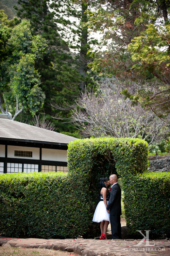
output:
[[[56,112],[60,116],[68,116],[70,108],[67,106],[72,105],[74,98],[80,93],[81,76],[74,65],[73,55],[67,43],[58,33],[61,28],[54,22],[54,11],[50,11],[53,3],[49,0],[19,0],[18,3],[21,6],[21,9],[18,9],[18,16],[29,19],[34,33],[41,34],[48,42],[48,53],[36,67],[41,75],[41,88],[46,94],[44,111],[49,116]],[[65,23],[60,14],[58,21],[60,24]],[[62,108],[56,110],[51,102]],[[59,120],[55,120],[55,125],[57,131],[73,131],[73,127],[62,125]]]

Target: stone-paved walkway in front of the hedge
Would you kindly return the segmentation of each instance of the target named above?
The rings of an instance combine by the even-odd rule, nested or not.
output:
[[[37,238],[0,238],[0,246],[13,246],[23,248],[47,248],[74,252],[82,256],[167,256],[170,255],[170,241],[149,240],[141,245],[141,240],[94,240],[94,239],[37,239]]]

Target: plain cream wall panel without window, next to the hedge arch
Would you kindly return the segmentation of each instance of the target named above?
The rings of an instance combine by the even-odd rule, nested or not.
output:
[[[67,150],[42,148],[42,160],[67,162]]]

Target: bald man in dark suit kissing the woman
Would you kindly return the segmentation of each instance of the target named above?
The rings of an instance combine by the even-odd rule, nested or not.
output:
[[[117,183],[117,175],[112,174],[109,177],[111,186],[110,198],[107,204],[107,212],[110,212],[112,239],[121,239],[121,189]]]

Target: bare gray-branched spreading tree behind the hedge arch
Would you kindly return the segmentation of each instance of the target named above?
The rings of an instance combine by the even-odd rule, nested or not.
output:
[[[77,102],[79,109],[73,113],[73,122],[83,136],[132,137],[146,139],[149,147],[167,137],[170,132],[169,119],[146,112],[131,100],[124,100],[120,82],[101,84],[97,91],[85,91]]]

